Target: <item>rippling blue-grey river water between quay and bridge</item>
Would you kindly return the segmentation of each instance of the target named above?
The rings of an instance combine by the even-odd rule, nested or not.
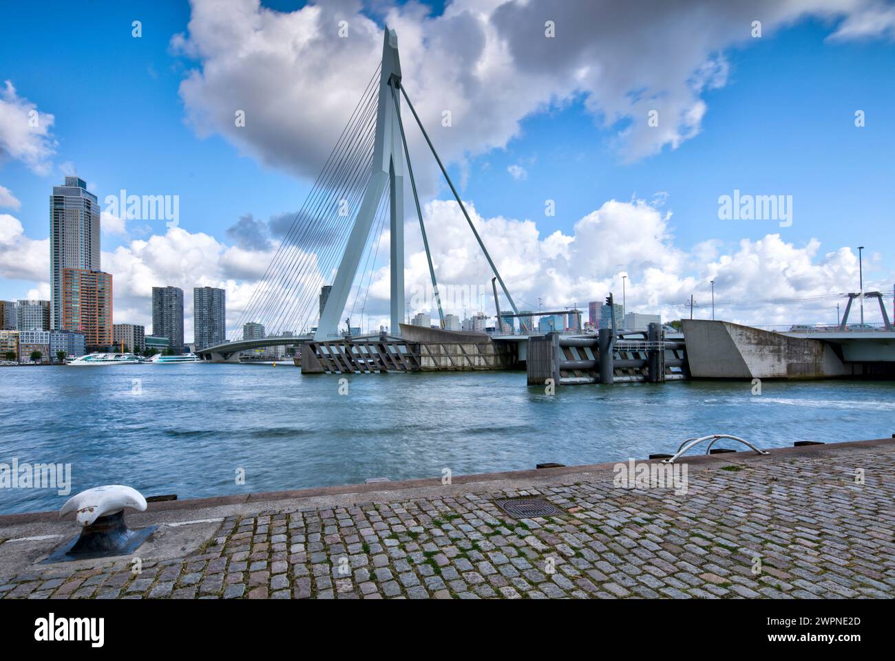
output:
[[[133,379],[141,394],[133,394]],[[523,372],[303,377],[291,365],[0,368],[0,463],[72,464],[72,493],[217,496],[624,461],[687,436],[760,446],[895,432],[895,384],[814,381],[569,386]],[[237,468],[246,474],[235,484]],[[55,509],[49,489],[0,489],[0,513]]]

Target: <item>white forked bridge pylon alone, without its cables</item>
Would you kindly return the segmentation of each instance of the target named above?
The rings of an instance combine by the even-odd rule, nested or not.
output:
[[[314,339],[332,339],[338,335],[339,317],[348,301],[348,293],[357,275],[364,247],[370,235],[373,216],[388,186],[389,234],[391,240],[391,326],[390,334],[399,335],[404,318],[404,151],[392,86],[401,81],[401,62],[397,55],[395,30],[386,30],[382,47],[382,73],[379,77],[379,105],[376,115],[376,137],[373,142],[373,165],[370,181],[363,191],[361,207],[348,236],[345,254],[339,262],[336,279],[329,292]]]

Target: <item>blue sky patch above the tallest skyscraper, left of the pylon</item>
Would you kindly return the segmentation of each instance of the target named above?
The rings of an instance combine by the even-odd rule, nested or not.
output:
[[[55,22],[42,20],[46,7],[20,5],[21,21],[0,43],[3,61],[14,63],[5,79],[38,108],[55,114],[60,143],[55,163],[75,165],[82,179],[95,184],[100,202],[122,188],[137,194],[183,191],[184,222],[221,237],[245,212],[295,208],[304,182],[240,157],[225,140],[201,140],[183,122],[177,94],[183,58],[170,55],[168,43],[186,29],[188,4],[88,6],[92,9]],[[136,17],[142,17],[139,39],[131,34]],[[28,58],[17,56],[38,42],[53,46],[30,51]],[[0,181],[21,200],[22,225],[34,238],[47,236],[47,196],[63,176],[56,168],[36,177],[20,163],[4,164],[0,171]],[[164,232],[163,221],[155,225]],[[103,250],[113,245],[104,242]]]

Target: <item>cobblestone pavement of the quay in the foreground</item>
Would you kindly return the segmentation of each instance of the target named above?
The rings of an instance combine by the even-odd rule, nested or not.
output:
[[[893,463],[890,446],[692,466],[685,496],[613,487],[604,470],[230,517],[197,552],[140,574],[55,565],[0,579],[0,597],[892,597]],[[558,513],[516,521],[493,503],[535,495]]]

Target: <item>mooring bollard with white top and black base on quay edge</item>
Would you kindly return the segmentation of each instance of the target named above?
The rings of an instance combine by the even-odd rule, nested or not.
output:
[[[131,530],[124,510],[146,511],[146,498],[132,487],[120,484],[94,487],[72,496],[59,510],[59,517],[75,513],[81,534],[57,548],[46,563],[128,555],[149,538],[157,526]]]

